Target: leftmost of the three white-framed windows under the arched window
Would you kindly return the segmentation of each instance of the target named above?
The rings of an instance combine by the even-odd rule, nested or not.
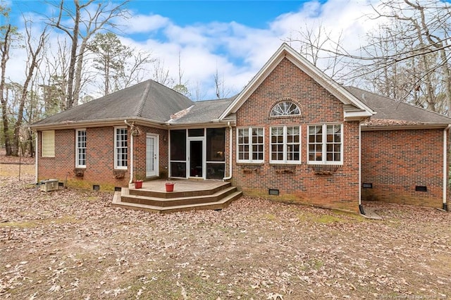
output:
[[[264,157],[263,127],[238,128],[237,148],[239,163],[262,163]]]

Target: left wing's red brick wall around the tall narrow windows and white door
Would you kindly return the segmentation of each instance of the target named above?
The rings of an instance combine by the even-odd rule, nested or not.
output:
[[[168,144],[163,139],[167,130],[140,126],[141,134],[134,137],[135,174],[145,175],[146,170],[146,132],[159,135],[159,168],[162,175],[167,174]],[[55,130],[55,157],[41,157],[41,132],[38,148],[38,180],[54,178],[73,187],[92,189],[99,185],[101,189],[113,190],[114,187],[126,187],[130,181],[130,133],[128,136],[128,169],[114,170],[114,127],[90,127],[87,134],[86,169],[82,177],[74,173],[75,169],[75,129]],[[166,172],[166,173],[165,173]],[[123,174],[123,177],[118,176]],[[166,175],[165,175],[166,176]],[[118,178],[119,177],[119,178]]]

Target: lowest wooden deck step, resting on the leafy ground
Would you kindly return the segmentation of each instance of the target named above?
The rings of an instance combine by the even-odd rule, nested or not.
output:
[[[175,213],[178,211],[193,211],[193,210],[204,210],[204,209],[223,209],[226,208],[230,202],[235,199],[240,198],[242,192],[234,191],[231,194],[223,197],[218,201],[206,202],[206,203],[197,203],[197,204],[183,204],[183,205],[175,205],[175,206],[152,206],[147,204],[137,204],[130,202],[121,201],[120,192],[116,192],[113,198],[113,206],[128,208],[128,209],[139,209],[144,211],[152,211],[154,213]]]

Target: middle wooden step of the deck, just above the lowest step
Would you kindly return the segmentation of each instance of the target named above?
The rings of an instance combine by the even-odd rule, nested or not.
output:
[[[182,206],[187,204],[203,204],[209,202],[216,202],[224,197],[236,192],[236,187],[226,187],[214,194],[207,194],[204,196],[180,196],[177,198],[159,198],[156,196],[139,196],[130,194],[128,189],[122,189],[121,201],[135,204],[145,204],[149,206]]]

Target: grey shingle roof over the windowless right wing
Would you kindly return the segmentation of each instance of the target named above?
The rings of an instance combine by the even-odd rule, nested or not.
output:
[[[345,89],[376,111],[376,115],[366,122],[368,126],[451,124],[451,118],[424,108],[395,101],[358,87],[345,87]]]

